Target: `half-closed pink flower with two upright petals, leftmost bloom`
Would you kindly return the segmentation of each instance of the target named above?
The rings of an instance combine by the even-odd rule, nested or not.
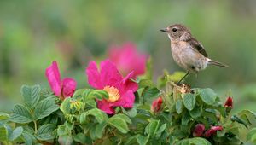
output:
[[[45,75],[55,96],[59,96],[62,100],[73,96],[77,82],[73,78],[64,78],[61,81],[61,74],[56,61],[53,61],[51,66],[46,68]]]

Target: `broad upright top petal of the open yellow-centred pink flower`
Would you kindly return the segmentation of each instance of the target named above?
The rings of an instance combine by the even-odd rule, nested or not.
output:
[[[113,62],[109,60],[101,62],[101,80],[103,86],[110,85],[117,88],[122,78],[122,75]]]

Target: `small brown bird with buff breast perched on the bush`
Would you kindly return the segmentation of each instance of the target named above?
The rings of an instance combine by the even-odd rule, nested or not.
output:
[[[160,29],[160,31],[166,32],[171,40],[173,60],[178,66],[183,67],[187,71],[177,84],[180,84],[189,73],[197,74],[209,65],[229,67],[224,63],[208,58],[206,49],[192,36],[188,27],[182,24],[174,24]]]

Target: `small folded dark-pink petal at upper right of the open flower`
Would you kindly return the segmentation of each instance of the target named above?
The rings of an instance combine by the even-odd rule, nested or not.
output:
[[[125,92],[126,90],[132,90],[132,92],[135,92],[138,89],[138,84],[131,80],[132,76],[133,72],[123,78],[122,83],[119,85],[119,90],[121,92]]]

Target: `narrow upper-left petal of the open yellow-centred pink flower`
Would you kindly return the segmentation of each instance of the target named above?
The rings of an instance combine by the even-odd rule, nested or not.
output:
[[[88,76],[88,83],[96,88],[96,89],[103,89],[101,75],[98,71],[95,61],[90,61],[88,67],[86,68],[86,74]]]

